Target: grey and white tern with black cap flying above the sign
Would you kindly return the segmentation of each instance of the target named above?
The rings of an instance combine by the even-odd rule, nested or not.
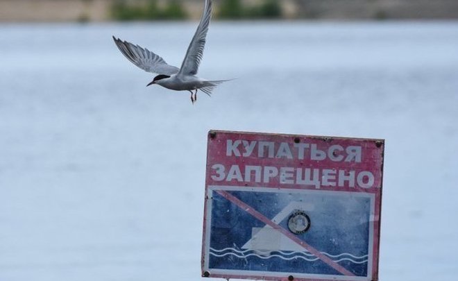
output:
[[[170,90],[191,92],[191,102],[197,101],[197,90],[201,90],[208,96],[212,94],[217,85],[227,80],[205,80],[196,76],[198,67],[203,58],[205,37],[212,18],[212,0],[205,0],[205,6],[198,24],[196,33],[187,48],[185,59],[181,68],[167,64],[163,58],[146,48],[134,45],[127,41],[121,41],[113,36],[114,43],[119,51],[137,67],[144,71],[158,74],[148,85],[160,85]]]

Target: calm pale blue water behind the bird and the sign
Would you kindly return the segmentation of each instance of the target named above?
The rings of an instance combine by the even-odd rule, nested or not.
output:
[[[0,280],[199,280],[210,128],[387,140],[381,280],[453,280],[458,22],[215,22],[212,98],[145,87],[196,23],[0,25]]]

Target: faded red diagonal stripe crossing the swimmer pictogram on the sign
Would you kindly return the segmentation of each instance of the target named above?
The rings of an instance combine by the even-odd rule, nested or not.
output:
[[[313,248],[309,244],[305,243],[305,241],[303,241],[302,239],[299,239],[298,237],[293,235],[288,230],[285,230],[285,228],[282,228],[280,225],[274,223],[273,221],[268,219],[266,216],[264,216],[260,212],[257,212],[256,210],[253,209],[253,207],[251,207],[250,205],[247,205],[243,201],[239,200],[239,198],[229,194],[227,191],[224,191],[224,190],[215,190],[215,191],[217,191],[224,198],[228,199],[228,201],[230,201],[230,202],[234,203],[235,205],[237,205],[239,208],[241,208],[241,210],[244,210],[245,212],[248,212],[249,214],[254,216],[256,219],[262,221],[266,225],[269,225],[271,228],[280,231],[282,233],[282,235],[285,235],[286,237],[291,239],[291,241],[294,241],[294,243],[296,243],[296,244],[300,245],[301,247],[305,248],[305,250],[308,250],[310,253],[312,253],[312,255],[318,257],[323,262],[325,262],[325,264],[328,264],[328,266],[331,266],[333,269],[339,271],[339,273],[341,273],[343,275],[348,275],[348,276],[355,276],[353,273],[348,271],[346,268],[344,268],[340,264],[337,264],[337,262],[334,262],[332,259],[330,259],[330,257],[328,257],[326,255],[323,255],[319,250],[316,250],[316,248]]]

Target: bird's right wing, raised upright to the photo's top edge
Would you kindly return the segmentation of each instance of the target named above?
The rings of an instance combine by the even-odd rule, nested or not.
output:
[[[201,64],[203,49],[205,47],[205,37],[207,37],[208,25],[212,18],[212,0],[205,0],[201,22],[198,24],[196,33],[187,48],[185,60],[181,65],[180,74],[196,75],[198,66]]]

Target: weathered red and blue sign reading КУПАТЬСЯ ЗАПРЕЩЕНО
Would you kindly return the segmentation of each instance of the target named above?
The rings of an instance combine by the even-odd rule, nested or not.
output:
[[[212,130],[202,276],[378,280],[384,141]]]

